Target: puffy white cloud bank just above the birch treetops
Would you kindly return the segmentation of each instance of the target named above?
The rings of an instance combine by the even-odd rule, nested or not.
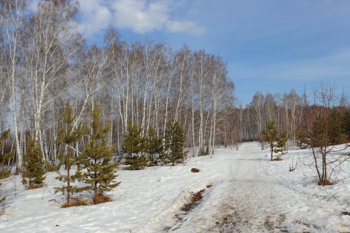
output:
[[[117,28],[130,28],[141,34],[166,30],[200,35],[206,31],[197,22],[171,19],[177,7],[177,3],[162,0],[84,0],[80,2],[80,30],[89,37],[112,22]]]

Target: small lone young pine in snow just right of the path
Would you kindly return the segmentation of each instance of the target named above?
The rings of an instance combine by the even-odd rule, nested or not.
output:
[[[283,148],[288,140],[288,132],[285,130],[280,134],[277,125],[275,124],[275,118],[272,118],[266,125],[266,130],[262,130],[261,134],[264,136],[264,140],[268,143],[268,146],[271,149],[271,161],[273,159],[273,153],[277,154],[277,157],[286,154],[283,152]],[[280,154],[278,154],[280,153]]]

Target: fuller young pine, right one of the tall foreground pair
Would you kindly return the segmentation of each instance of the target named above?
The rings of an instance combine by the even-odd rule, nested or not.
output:
[[[98,195],[104,191],[110,191],[117,187],[120,182],[113,182],[118,176],[116,175],[119,163],[112,162],[112,153],[116,149],[116,145],[110,147],[107,144],[107,136],[111,131],[111,124],[102,125],[102,109],[100,105],[94,103],[94,109],[90,108],[92,120],[90,127],[86,127],[86,133],[89,135],[90,141],[85,143],[85,152],[82,154],[86,160],[85,168],[87,172],[84,174],[84,182],[89,184],[89,189],[94,191],[94,199],[97,200]],[[92,161],[90,163],[89,161]]]

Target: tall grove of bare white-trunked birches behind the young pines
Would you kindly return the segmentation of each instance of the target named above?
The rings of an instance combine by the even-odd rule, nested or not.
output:
[[[163,42],[121,40],[109,26],[103,45],[86,43],[79,32],[79,3],[40,1],[33,13],[28,0],[0,1],[0,133],[12,135],[3,152],[15,149],[8,165],[22,165],[29,136],[40,145],[44,159],[56,163],[58,150],[75,155],[84,143],[57,148],[57,122],[70,100],[77,114],[74,127],[90,120],[96,100],[102,123],[111,122],[109,145],[116,144],[114,160],[123,160],[121,145],[127,122],[154,128],[160,136],[172,117],[187,134],[192,156],[215,154],[218,146],[262,140],[261,130],[275,118],[288,130],[287,146],[295,146],[303,114],[301,97],[290,93],[257,92],[246,106],[233,95],[227,63],[205,50],[186,44],[173,50]]]

